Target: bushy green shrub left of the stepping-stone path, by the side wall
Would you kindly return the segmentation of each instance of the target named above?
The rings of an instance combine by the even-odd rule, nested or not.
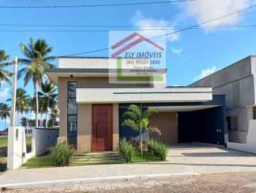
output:
[[[74,154],[74,149],[70,148],[66,143],[55,144],[49,150],[54,166],[68,166]]]

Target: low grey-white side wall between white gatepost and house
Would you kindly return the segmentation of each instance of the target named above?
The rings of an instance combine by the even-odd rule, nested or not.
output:
[[[59,130],[36,128],[33,130],[35,139],[35,156],[42,155],[47,151],[47,148],[57,143]]]

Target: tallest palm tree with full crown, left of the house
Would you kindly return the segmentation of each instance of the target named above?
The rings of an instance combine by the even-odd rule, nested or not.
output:
[[[44,68],[54,68],[50,62],[56,59],[55,56],[48,56],[52,52],[52,47],[45,40],[38,39],[34,42],[30,38],[28,45],[20,43],[20,48],[25,59],[19,58],[19,63],[26,65],[18,72],[18,78],[24,76],[24,85],[26,86],[30,80],[33,81],[34,91],[36,95],[36,127],[38,127],[38,84],[41,86],[42,78],[45,75]]]

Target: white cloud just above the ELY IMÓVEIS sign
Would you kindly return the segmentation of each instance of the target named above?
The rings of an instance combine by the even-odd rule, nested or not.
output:
[[[163,31],[163,29],[166,29],[166,27],[164,26],[171,26],[170,22],[164,19],[157,20],[152,18],[145,18],[140,12],[140,10],[136,12],[134,17],[132,17],[131,21],[134,23],[134,26],[138,26],[140,30],[149,29],[148,31],[152,32],[152,36],[154,36],[154,33],[155,34],[157,33],[157,35],[158,34],[164,35],[166,33],[172,33],[174,31],[170,29]],[[154,27],[154,26],[159,26],[159,27]],[[152,29],[159,29],[159,30],[152,31]],[[166,36],[166,39],[169,40],[170,42],[179,40],[179,33],[168,35]]]

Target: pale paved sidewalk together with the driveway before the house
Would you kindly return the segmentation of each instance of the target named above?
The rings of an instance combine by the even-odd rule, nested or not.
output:
[[[166,173],[234,173],[256,171],[256,155],[205,144],[170,146],[167,162],[17,169],[1,174],[0,184],[105,176]]]

